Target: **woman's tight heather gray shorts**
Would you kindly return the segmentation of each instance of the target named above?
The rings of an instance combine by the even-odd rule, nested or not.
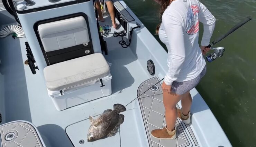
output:
[[[177,94],[177,95],[183,95],[186,92],[189,92],[191,89],[195,88],[196,85],[199,84],[201,78],[206,74],[206,65],[203,68],[202,72],[200,73],[199,76],[192,80],[184,81],[184,82],[176,82],[174,81],[172,83],[172,92]]]

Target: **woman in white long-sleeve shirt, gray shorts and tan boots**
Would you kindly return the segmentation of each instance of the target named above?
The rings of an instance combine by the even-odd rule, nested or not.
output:
[[[162,84],[166,127],[151,132],[158,139],[176,138],[176,120],[190,124],[192,98],[189,93],[205,75],[203,55],[215,26],[215,18],[198,0],[155,0],[161,4],[161,23],[156,28],[168,49],[169,70]],[[201,47],[198,44],[199,21],[204,24]],[[201,48],[201,49],[200,49]],[[182,109],[176,104],[181,100]]]

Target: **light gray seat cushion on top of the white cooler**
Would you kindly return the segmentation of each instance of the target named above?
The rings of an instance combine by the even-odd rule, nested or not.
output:
[[[109,74],[109,65],[101,53],[93,53],[44,68],[46,86],[51,91],[67,89]]]

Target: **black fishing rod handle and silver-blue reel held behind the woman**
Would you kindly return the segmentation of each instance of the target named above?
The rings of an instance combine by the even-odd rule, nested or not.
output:
[[[232,32],[234,32],[235,30],[237,30],[238,28],[240,28],[241,26],[243,26],[245,23],[247,23],[248,21],[252,20],[252,17],[247,16],[245,20],[239,22],[236,26],[234,26],[233,28],[231,28],[226,34],[220,36],[219,38],[217,38],[216,40],[214,40],[209,46],[207,46],[208,48],[211,48],[212,46],[216,45],[216,43],[220,42],[221,40],[223,40],[224,38],[226,38],[227,36],[229,36]],[[208,55],[206,57],[208,62],[212,62],[215,59],[217,59],[218,57],[222,57],[225,51],[224,47],[218,47],[218,48],[211,48],[211,50],[214,50],[213,53],[211,53],[210,55]]]

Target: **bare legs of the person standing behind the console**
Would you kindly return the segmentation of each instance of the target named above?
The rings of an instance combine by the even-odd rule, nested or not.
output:
[[[111,0],[104,0],[104,1],[107,4],[108,11],[109,11],[109,14],[110,14],[110,17],[112,20],[113,28],[116,28],[118,25],[117,25],[116,19],[115,19],[115,9],[114,9],[113,2]],[[104,22],[104,18],[102,16],[102,12],[101,12],[100,0],[96,0],[95,3],[96,3],[96,8],[97,8],[97,11],[99,14],[98,20],[101,22]]]

